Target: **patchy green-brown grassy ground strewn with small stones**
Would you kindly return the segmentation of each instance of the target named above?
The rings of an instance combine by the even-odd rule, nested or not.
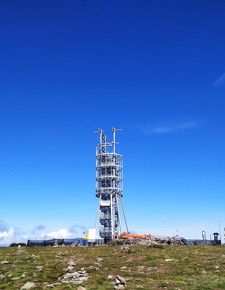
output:
[[[17,248],[0,247],[0,253],[0,261],[9,262],[0,264],[0,275],[6,276],[0,279],[0,289],[20,289],[27,281],[36,283],[36,290],[50,289],[46,284],[57,282],[57,278],[65,274],[63,268],[67,267],[69,259],[76,262],[76,270],[84,267],[87,271],[89,279],[81,284],[87,290],[113,289],[110,282],[115,281],[118,274],[132,278],[127,281],[127,290],[225,289],[225,246],[164,246],[162,249],[132,246],[128,253],[119,246],[46,247],[25,248],[22,254],[17,254]],[[96,258],[103,260],[97,261]],[[166,262],[165,259],[177,261]],[[43,266],[41,271],[35,268],[38,265]],[[96,267],[99,270],[96,271]],[[217,270],[219,272],[215,272]],[[10,274],[12,276],[7,277]],[[12,280],[22,274],[25,277]],[[113,279],[107,279],[108,275],[113,275]],[[70,285],[71,289],[79,286]],[[70,288],[61,284],[56,289]]]

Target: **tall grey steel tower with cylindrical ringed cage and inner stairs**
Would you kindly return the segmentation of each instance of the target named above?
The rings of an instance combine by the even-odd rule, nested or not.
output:
[[[95,228],[99,215],[99,237],[111,239],[113,235],[122,233],[119,199],[125,219],[121,197],[123,196],[123,156],[115,153],[115,131],[112,128],[113,142],[107,142],[106,135],[99,129],[94,133],[100,133],[100,144],[96,146],[96,186],[95,196],[99,197],[98,211],[95,220]],[[112,152],[108,150],[112,148]],[[127,228],[128,231],[128,228]]]

